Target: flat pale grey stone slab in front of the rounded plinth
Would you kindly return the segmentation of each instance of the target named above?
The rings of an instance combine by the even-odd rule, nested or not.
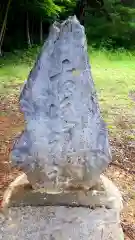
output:
[[[82,207],[18,207],[0,219],[3,240],[124,240],[114,209]]]

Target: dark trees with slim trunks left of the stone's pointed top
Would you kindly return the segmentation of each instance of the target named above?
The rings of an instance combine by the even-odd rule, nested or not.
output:
[[[27,44],[31,47],[32,43],[42,43],[50,24],[57,19],[65,18],[70,13],[73,14],[75,4],[75,0],[8,0],[4,14],[0,11],[1,48],[9,51],[17,46],[23,47]],[[5,0],[1,0],[0,8],[4,5]],[[6,25],[8,29],[4,38]]]

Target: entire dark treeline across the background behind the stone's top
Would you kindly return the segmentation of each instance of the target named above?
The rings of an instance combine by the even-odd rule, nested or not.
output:
[[[76,14],[95,47],[135,47],[135,0],[0,0],[0,54],[40,44],[50,24]]]

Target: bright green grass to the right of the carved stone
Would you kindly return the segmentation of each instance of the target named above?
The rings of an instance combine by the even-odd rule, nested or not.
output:
[[[89,51],[103,117],[111,132],[123,132],[134,138],[135,103],[129,93],[135,92],[135,54],[126,50]]]

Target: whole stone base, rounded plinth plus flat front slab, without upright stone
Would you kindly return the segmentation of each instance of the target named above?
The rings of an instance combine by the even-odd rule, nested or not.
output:
[[[87,192],[52,195],[33,190],[22,174],[7,188],[2,207],[3,240],[124,240],[121,194],[103,175]]]

